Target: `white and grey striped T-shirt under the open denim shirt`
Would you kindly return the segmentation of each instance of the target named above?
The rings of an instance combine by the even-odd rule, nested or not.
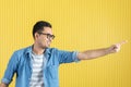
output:
[[[29,87],[44,87],[43,66],[44,66],[44,54],[37,55],[32,52],[32,77]]]

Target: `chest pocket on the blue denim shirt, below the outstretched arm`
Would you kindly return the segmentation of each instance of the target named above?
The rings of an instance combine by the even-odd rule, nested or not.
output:
[[[47,71],[46,71],[47,75],[46,77],[47,78],[58,78],[58,66],[57,65],[50,65],[50,66],[47,66]]]

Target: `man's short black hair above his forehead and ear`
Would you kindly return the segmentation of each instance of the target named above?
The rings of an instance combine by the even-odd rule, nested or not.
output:
[[[46,22],[46,21],[36,22],[36,24],[33,27],[33,37],[35,38],[35,33],[43,32],[44,27],[50,27],[51,28],[51,24]]]

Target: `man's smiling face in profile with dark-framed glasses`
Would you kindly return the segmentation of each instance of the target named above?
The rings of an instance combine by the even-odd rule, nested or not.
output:
[[[52,39],[53,36],[50,27],[44,27],[43,32],[35,34],[35,42],[43,49],[50,47]]]

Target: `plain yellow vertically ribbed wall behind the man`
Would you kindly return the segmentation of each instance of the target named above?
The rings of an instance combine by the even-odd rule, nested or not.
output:
[[[13,51],[34,42],[32,28],[39,20],[52,24],[51,47],[62,50],[129,40],[118,53],[62,64],[60,87],[131,87],[131,0],[0,0],[0,78]]]

